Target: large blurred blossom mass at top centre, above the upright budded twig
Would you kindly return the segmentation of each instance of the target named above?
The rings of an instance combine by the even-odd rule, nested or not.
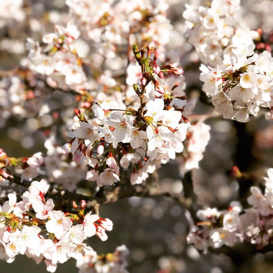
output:
[[[126,52],[133,43],[145,47],[151,41],[156,42],[157,54],[161,54],[170,39],[172,26],[164,1],[107,0],[91,5],[88,0],[66,0],[66,4],[85,39],[93,41],[97,54],[106,59],[116,58],[124,51],[122,47]]]

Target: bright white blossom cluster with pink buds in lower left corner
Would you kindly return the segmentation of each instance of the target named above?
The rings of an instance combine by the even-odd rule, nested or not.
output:
[[[12,262],[17,254],[26,254],[37,263],[45,261],[47,270],[54,272],[58,263],[70,257],[78,260],[90,248],[83,241],[97,235],[107,240],[105,231],[113,223],[91,212],[84,212],[86,202],[80,207],[73,202],[76,214],[54,210],[53,200],[46,195],[50,185],[45,180],[33,181],[17,202],[15,192],[0,207],[1,258]],[[47,200],[46,200],[47,199]]]

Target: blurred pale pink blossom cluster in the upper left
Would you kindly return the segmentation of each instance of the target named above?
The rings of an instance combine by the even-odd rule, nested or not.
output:
[[[76,92],[88,89],[82,58],[72,45],[79,34],[77,27],[68,23],[66,28],[55,25],[55,33],[43,36],[43,42],[47,44],[45,48],[28,38],[26,48],[29,50],[30,69],[48,76],[47,83],[53,88]]]

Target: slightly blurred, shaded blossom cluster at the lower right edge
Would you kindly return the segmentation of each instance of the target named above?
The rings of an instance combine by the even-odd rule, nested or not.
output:
[[[201,222],[191,227],[187,242],[200,250],[207,250],[209,246],[219,248],[224,244],[233,246],[242,241],[261,249],[272,243],[273,169],[268,170],[265,181],[265,194],[258,187],[251,187],[248,197],[251,207],[244,211],[239,202],[231,202],[225,211],[216,208],[198,211]]]

